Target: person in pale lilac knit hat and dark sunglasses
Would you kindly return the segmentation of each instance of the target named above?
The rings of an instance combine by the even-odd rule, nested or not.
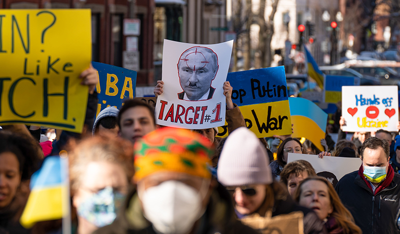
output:
[[[265,224],[276,218],[286,219],[289,213],[299,214],[303,230],[298,233],[325,233],[317,215],[296,205],[283,184],[273,181],[268,164],[265,147],[250,130],[241,127],[228,136],[218,161],[217,178],[230,192],[237,217],[259,229],[259,222]]]

